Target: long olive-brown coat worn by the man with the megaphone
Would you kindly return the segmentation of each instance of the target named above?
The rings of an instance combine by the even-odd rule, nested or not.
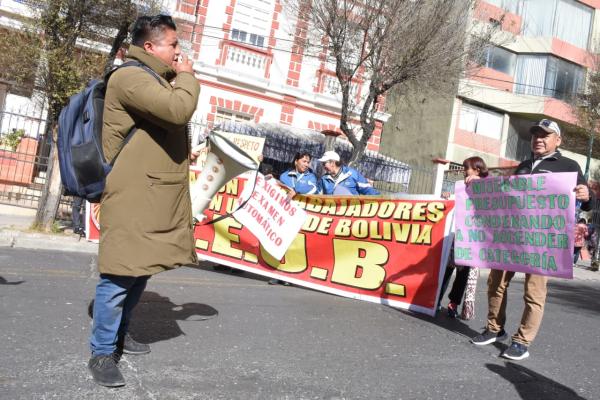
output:
[[[100,206],[100,273],[152,275],[197,261],[188,184],[185,126],[200,87],[140,47],[129,57],[164,78],[164,86],[139,67],[111,76],[104,104],[102,144],[107,160],[135,125],[107,177]],[[175,78],[174,85],[168,81]]]

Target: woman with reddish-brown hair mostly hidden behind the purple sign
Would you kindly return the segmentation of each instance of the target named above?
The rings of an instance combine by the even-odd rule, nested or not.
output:
[[[476,179],[486,178],[489,174],[485,161],[483,161],[481,157],[469,157],[465,159],[463,161],[463,169],[465,185],[468,185]],[[450,318],[458,317],[458,307],[460,306],[463,297],[465,297],[465,292],[467,292],[465,303],[462,307],[461,318],[468,320],[473,318],[475,313],[475,290],[477,287],[479,270],[464,265],[455,265],[453,256],[454,250],[452,250],[450,254],[451,260],[446,267],[446,273],[444,274],[444,280],[442,281],[439,303],[441,303],[446,287],[448,287],[452,273],[456,271],[456,277],[454,278],[452,289],[450,289],[450,294],[448,295],[448,299],[450,300],[447,308],[448,316]]]

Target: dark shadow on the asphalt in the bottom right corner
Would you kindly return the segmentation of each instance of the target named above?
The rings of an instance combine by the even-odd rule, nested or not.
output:
[[[504,365],[485,364],[485,366],[512,383],[523,400],[585,400],[573,389],[533,372],[522,365],[506,362]]]

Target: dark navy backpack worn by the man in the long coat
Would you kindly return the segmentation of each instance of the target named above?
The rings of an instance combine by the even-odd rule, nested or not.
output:
[[[110,71],[104,79],[94,79],[81,92],[69,98],[58,117],[58,162],[65,194],[83,197],[92,203],[100,201],[106,176],[123,147],[137,130],[133,127],[112,162],[107,163],[102,151],[102,113],[110,76],[120,68],[139,67],[154,76],[156,72],[139,61],[128,61]]]

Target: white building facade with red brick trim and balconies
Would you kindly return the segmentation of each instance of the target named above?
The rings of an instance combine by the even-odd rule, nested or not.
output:
[[[185,50],[201,85],[196,120],[277,123],[328,134],[339,129],[339,83],[321,46],[307,44],[306,22],[280,0],[172,0]],[[368,82],[357,80],[360,102]],[[377,151],[386,114],[368,149]]]

